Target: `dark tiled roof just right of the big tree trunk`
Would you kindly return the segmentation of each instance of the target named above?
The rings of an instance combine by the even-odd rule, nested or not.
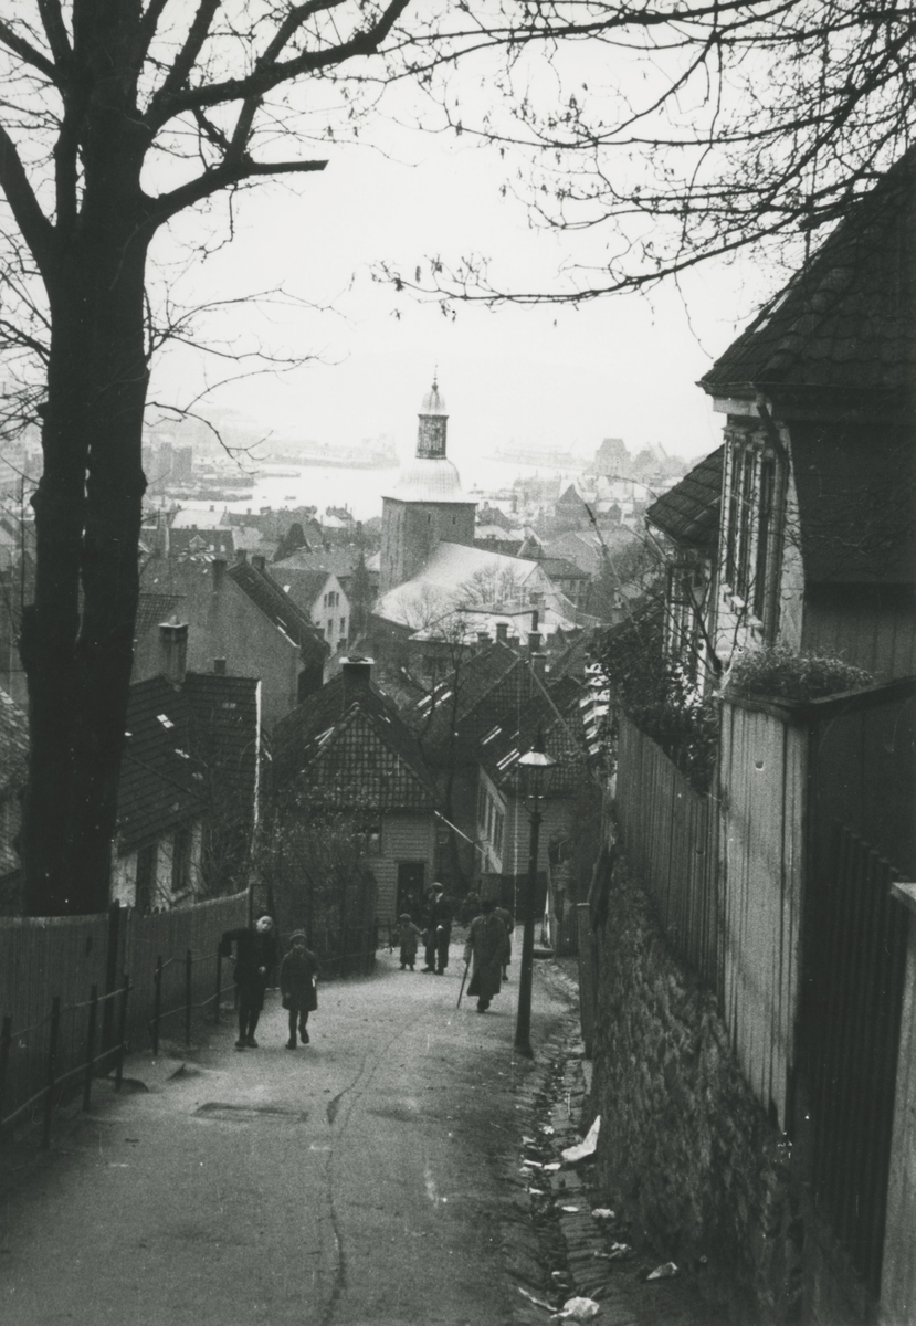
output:
[[[118,837],[130,851],[201,818],[211,805],[253,814],[257,682],[188,672],[130,688],[118,782]]]

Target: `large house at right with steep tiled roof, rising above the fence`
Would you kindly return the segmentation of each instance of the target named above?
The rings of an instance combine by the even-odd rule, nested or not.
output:
[[[722,448],[648,518],[687,554],[672,643],[701,589],[720,668],[779,643],[876,680],[916,672],[915,236],[911,150],[700,382]]]

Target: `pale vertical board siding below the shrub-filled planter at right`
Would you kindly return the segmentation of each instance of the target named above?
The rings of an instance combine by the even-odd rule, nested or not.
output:
[[[757,709],[722,704],[722,1014],[761,1105],[790,1111],[802,898],[806,737]]]

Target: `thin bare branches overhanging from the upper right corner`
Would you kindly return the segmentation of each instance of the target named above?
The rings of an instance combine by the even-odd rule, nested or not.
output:
[[[476,113],[445,80],[431,95],[456,133],[498,145],[536,225],[593,236],[590,257],[520,289],[480,255],[435,256],[387,269],[403,286],[579,302],[748,247],[794,268],[913,141],[916,16],[899,0],[530,8],[550,41],[533,50],[521,25],[492,74],[501,97]]]

